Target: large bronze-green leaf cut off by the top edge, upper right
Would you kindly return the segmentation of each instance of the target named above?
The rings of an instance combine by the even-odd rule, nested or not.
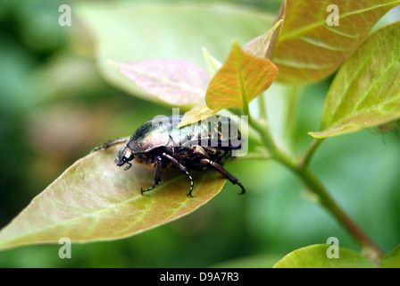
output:
[[[327,9],[330,4],[337,5],[338,26],[327,24],[333,15]],[[400,0],[285,1],[273,57],[278,80],[304,84],[327,77],[362,44],[379,18],[398,4]]]

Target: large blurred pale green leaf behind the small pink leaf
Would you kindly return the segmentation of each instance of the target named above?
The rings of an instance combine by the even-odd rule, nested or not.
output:
[[[86,37],[71,38],[75,46],[91,39],[96,62],[104,79],[134,97],[154,100],[121,76],[107,61],[133,63],[150,58],[179,58],[204,63],[201,47],[216,58],[229,53],[229,40],[246,42],[271,26],[274,15],[242,5],[211,3],[79,3],[74,9],[76,24]],[[76,35],[76,34],[74,34]]]

